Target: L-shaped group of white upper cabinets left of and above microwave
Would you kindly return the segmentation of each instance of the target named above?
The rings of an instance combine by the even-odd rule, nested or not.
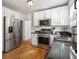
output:
[[[39,12],[34,12],[34,26],[39,26],[39,20],[52,18],[52,10],[44,10]]]

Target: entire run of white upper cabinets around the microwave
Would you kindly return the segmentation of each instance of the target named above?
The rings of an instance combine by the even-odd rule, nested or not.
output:
[[[34,26],[39,25],[40,19],[51,19],[52,26],[69,25],[68,6],[57,7],[34,13]]]

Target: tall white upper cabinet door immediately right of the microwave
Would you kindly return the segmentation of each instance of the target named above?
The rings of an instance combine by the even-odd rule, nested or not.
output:
[[[52,25],[60,25],[59,8],[52,9]]]

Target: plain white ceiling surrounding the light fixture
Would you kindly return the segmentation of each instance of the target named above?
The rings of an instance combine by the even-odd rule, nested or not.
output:
[[[68,0],[33,0],[34,5],[27,5],[27,0],[2,0],[3,6],[27,14],[35,10],[47,9],[55,6],[65,5]]]

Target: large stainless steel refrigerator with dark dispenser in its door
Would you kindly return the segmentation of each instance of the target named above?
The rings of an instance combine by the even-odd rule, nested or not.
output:
[[[22,21],[5,16],[3,19],[4,40],[3,51],[8,52],[18,47],[22,39]]]

